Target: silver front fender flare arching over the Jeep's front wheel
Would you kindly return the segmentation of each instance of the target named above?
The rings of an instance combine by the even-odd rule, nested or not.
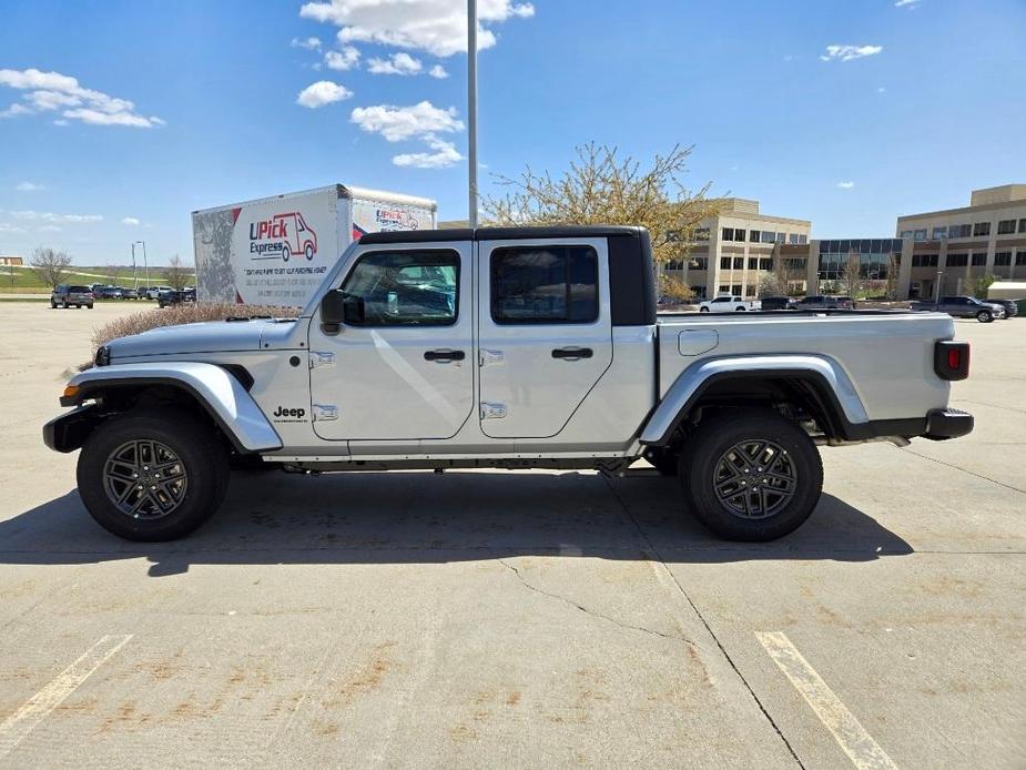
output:
[[[68,385],[77,387],[78,392],[73,396],[62,397],[62,406],[79,406],[83,401],[98,397],[103,391],[118,387],[176,387],[196,399],[237,449],[266,452],[282,448],[282,439],[253,396],[230,372],[215,364],[114,364],[81,372]]]

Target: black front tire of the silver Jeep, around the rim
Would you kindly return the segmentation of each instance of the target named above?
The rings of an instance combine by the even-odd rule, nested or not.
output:
[[[108,459],[133,440],[160,443],[184,467],[182,499],[160,517],[133,517],[108,495]],[[77,478],[79,495],[101,527],[128,540],[160,543],[189,535],[217,510],[228,473],[227,450],[211,426],[181,409],[155,408],[126,412],[98,426],[79,454]]]

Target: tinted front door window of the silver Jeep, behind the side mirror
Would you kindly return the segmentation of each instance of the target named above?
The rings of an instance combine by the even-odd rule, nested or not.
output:
[[[459,254],[370,252],[359,257],[342,290],[363,298],[363,326],[449,326],[459,308]]]

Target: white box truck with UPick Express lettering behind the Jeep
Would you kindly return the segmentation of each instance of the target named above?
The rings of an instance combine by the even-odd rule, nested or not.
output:
[[[303,306],[365,233],[434,230],[427,197],[343,184],[192,213],[200,302]]]

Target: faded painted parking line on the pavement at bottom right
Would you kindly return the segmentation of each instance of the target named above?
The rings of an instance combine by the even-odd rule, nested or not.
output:
[[[865,731],[822,677],[780,631],[755,631],[755,638],[802,693],[820,721],[831,731],[859,770],[897,770],[897,766]]]

